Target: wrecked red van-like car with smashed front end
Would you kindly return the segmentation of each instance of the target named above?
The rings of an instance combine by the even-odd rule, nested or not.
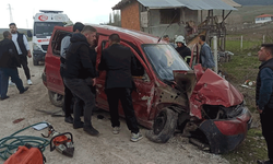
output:
[[[146,132],[150,140],[167,142],[176,130],[180,130],[192,143],[212,153],[226,153],[244,141],[251,115],[242,94],[212,70],[203,71],[197,65],[195,48],[187,65],[170,45],[158,42],[158,37],[120,27],[93,26],[97,30],[97,65],[112,33],[119,34],[121,44],[134,54],[141,71],[133,73],[136,86],[132,93],[133,106],[139,124],[150,129]],[[50,101],[57,106],[63,103],[60,44],[69,33],[72,26],[55,27],[45,59],[43,81]],[[97,78],[96,106],[108,110],[105,75],[103,71]]]

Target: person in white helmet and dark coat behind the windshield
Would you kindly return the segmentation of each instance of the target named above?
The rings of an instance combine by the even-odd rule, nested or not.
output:
[[[179,52],[179,55],[185,59],[185,61],[189,65],[190,63],[190,58],[191,58],[191,50],[189,47],[187,47],[185,37],[179,35],[176,38],[176,50]]]

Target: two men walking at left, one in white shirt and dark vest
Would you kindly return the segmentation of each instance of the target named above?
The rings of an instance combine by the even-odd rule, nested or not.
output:
[[[31,58],[31,50],[24,34],[17,32],[15,23],[10,23],[10,32],[3,32],[3,39],[0,42],[0,99],[7,99],[9,78],[15,83],[20,94],[28,90],[24,86],[19,77],[17,68],[21,66],[26,75],[26,82],[32,85],[31,73],[27,66],[27,57]]]

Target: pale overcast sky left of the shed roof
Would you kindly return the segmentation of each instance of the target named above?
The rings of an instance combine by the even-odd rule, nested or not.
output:
[[[33,28],[33,16],[39,10],[63,11],[70,20],[82,23],[108,23],[111,8],[121,0],[0,0],[0,28],[10,24],[10,10],[19,28]]]

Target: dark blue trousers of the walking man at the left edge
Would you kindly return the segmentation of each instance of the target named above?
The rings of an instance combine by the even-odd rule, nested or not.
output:
[[[0,68],[1,69],[1,97],[7,97],[9,78],[11,77],[12,81],[16,84],[16,87],[20,92],[23,92],[25,87],[23,82],[19,77],[17,68]]]

